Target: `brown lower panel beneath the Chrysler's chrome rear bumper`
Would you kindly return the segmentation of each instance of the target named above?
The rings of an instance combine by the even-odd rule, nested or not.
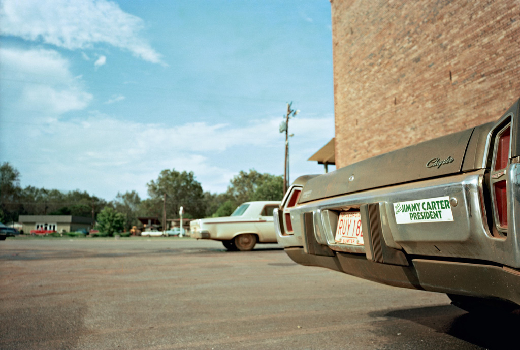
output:
[[[399,266],[369,261],[360,254],[311,255],[303,248],[286,248],[285,252],[301,265],[327,267],[389,286],[491,297],[520,304],[520,271],[507,267],[422,258],[412,259],[409,266]]]

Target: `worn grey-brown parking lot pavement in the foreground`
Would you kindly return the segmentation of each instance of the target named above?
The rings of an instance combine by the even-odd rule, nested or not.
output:
[[[505,344],[503,335],[489,334],[492,325],[443,294],[300,266],[277,245],[257,247],[227,252],[219,242],[179,238],[8,239],[0,244],[0,348]]]

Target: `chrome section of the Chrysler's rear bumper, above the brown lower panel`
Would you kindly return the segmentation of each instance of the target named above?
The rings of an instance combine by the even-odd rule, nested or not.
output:
[[[314,255],[354,253],[398,265],[407,264],[407,258],[429,256],[520,268],[520,164],[508,168],[509,230],[505,237],[493,235],[490,227],[492,214],[484,204],[484,177],[484,171],[476,171],[425,180],[420,185],[404,184],[298,204],[290,211],[294,235],[284,235],[277,225],[278,243],[284,248],[303,247]],[[397,221],[396,203],[435,198],[454,203],[449,209],[451,221]],[[360,211],[364,246],[341,244],[334,239],[339,213],[346,208]]]

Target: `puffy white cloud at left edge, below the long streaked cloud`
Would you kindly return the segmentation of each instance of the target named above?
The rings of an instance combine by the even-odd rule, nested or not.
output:
[[[38,117],[85,108],[93,96],[83,91],[81,76],[74,77],[69,61],[54,50],[0,49],[2,79],[13,81],[18,100],[8,101]],[[29,115],[27,115],[29,118]]]

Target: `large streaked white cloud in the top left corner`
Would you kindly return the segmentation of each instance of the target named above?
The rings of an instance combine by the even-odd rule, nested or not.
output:
[[[4,0],[0,3],[2,34],[58,47],[92,48],[106,43],[134,56],[164,64],[139,33],[143,21],[107,0]]]

